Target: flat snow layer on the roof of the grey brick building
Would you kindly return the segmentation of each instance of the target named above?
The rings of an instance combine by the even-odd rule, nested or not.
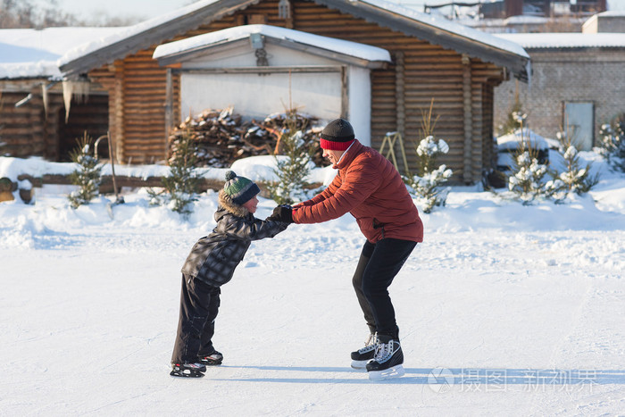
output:
[[[625,47],[625,33],[497,33],[528,49]]]

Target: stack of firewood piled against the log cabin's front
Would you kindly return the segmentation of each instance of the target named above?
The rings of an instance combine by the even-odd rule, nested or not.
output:
[[[313,162],[327,165],[321,156],[318,120],[301,113],[272,114],[263,121],[244,121],[229,107],[225,110],[205,110],[196,117],[187,117],[171,132],[172,144],[183,135],[190,135],[197,146],[197,166],[227,168],[237,159],[249,156],[279,154],[279,141],[288,129],[302,130],[306,146],[312,147]]]

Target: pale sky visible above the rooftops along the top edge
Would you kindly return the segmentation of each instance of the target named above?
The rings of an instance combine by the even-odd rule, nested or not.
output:
[[[37,0],[46,4],[46,0]],[[413,6],[422,10],[423,4],[449,3],[452,0],[389,0],[392,3]],[[461,0],[467,1],[467,0]],[[469,0],[478,1],[478,0]],[[90,19],[100,14],[111,17],[140,16],[146,19],[169,13],[179,7],[195,3],[194,0],[57,0],[59,6],[79,18]],[[608,10],[625,10],[625,0],[608,0]]]

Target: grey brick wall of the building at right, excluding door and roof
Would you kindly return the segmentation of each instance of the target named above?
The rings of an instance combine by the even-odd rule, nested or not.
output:
[[[625,112],[625,47],[529,49],[530,84],[515,79],[495,88],[495,131],[514,102],[515,88],[530,129],[546,138],[564,125],[565,102],[595,104],[595,141],[601,125]]]

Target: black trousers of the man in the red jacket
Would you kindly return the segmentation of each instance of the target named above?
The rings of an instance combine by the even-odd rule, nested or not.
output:
[[[377,331],[399,339],[388,287],[416,245],[412,240],[384,238],[375,244],[367,240],[362,246],[352,283],[371,334]]]

